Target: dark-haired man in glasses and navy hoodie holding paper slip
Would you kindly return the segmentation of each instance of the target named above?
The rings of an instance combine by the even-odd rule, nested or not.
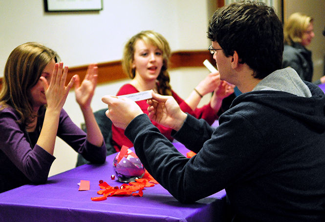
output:
[[[220,79],[242,92],[217,129],[157,93],[147,101],[149,116],[128,98],[106,95],[107,116],[182,203],[225,189],[232,222],[325,221],[325,94],[282,69],[283,29],[274,8],[260,1],[219,8],[208,38]],[[173,128],[197,154],[183,156],[151,120]]]

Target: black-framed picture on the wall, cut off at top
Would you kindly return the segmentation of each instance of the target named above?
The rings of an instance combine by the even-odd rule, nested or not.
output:
[[[44,0],[45,12],[100,11],[103,0]]]

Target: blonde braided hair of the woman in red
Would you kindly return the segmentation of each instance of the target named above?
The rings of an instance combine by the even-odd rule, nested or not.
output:
[[[123,51],[122,68],[131,79],[135,77],[135,69],[132,68],[134,59],[134,46],[137,40],[142,40],[146,44],[152,44],[162,51],[163,66],[161,67],[160,74],[157,77],[158,92],[162,95],[172,95],[172,89],[170,85],[170,77],[168,73],[169,59],[171,56],[171,49],[168,41],[159,33],[154,31],[142,31],[135,36],[131,37],[126,43]]]

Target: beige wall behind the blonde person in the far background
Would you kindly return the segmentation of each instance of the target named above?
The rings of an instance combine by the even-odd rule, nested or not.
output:
[[[283,0],[284,22],[292,13],[302,12],[314,18],[315,37],[308,49],[312,51],[314,63],[313,81],[324,75],[325,37],[325,0]]]

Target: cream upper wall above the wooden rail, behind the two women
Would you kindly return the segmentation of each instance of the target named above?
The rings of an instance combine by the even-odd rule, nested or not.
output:
[[[120,60],[125,42],[142,30],[161,33],[173,51],[202,50],[206,11],[207,0],[103,0],[98,12],[44,12],[43,0],[0,0],[0,76],[10,52],[27,41],[57,51],[70,67]]]

